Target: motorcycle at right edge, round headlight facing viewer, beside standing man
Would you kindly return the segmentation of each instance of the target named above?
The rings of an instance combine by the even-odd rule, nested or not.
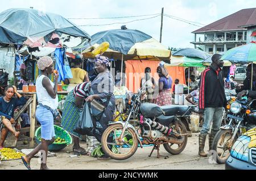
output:
[[[230,155],[230,150],[241,134],[256,126],[256,100],[249,101],[247,97],[236,99],[236,95],[230,95],[226,106],[226,122],[217,132],[212,143],[212,153],[216,153],[216,162],[225,163]]]

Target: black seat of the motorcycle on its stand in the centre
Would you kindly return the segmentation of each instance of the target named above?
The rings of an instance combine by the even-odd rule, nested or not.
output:
[[[162,106],[164,115],[165,116],[189,116],[191,114],[191,111],[189,109],[191,107],[189,106],[180,106],[180,105],[168,105],[168,106]]]

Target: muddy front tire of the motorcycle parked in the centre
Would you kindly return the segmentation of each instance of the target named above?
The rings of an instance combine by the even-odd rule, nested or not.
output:
[[[110,125],[110,127],[108,127],[104,133],[102,134],[102,138],[101,138],[101,145],[102,145],[102,149],[104,151],[105,154],[107,154],[110,158],[112,159],[116,159],[116,160],[124,160],[124,159],[128,159],[131,156],[134,155],[134,153],[137,151],[138,149],[138,138],[134,132],[133,129],[131,128],[127,128],[127,130],[131,133],[131,137],[133,138],[133,145],[131,147],[131,150],[129,151],[129,153],[127,154],[115,154],[112,152],[112,150],[110,150],[108,144],[107,144],[107,140],[109,137],[109,134],[112,133],[115,129],[123,129],[121,124],[114,124],[114,125]]]

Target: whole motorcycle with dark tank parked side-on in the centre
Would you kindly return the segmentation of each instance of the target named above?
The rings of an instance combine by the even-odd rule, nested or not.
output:
[[[127,119],[110,123],[102,134],[104,153],[110,158],[130,158],[142,145],[154,145],[159,154],[160,145],[171,154],[179,154],[187,145],[188,134],[185,125],[176,115],[188,115],[194,106],[163,106],[142,103],[144,91],[126,98]]]

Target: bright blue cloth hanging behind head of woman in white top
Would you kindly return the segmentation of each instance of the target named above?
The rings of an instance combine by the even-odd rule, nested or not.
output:
[[[71,68],[65,61],[65,50],[57,48],[54,53],[56,59],[56,70],[59,71],[59,82],[64,81],[66,78],[73,78]]]

